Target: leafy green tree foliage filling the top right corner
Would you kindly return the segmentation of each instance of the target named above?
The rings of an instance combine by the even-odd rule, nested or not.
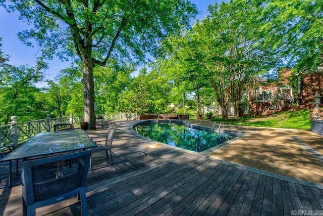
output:
[[[323,12],[321,0],[268,0],[264,16],[267,44],[279,49],[290,64],[323,66]]]

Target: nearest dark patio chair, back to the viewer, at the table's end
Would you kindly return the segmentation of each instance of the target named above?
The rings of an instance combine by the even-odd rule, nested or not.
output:
[[[23,215],[35,215],[38,207],[50,205],[77,195],[81,200],[82,215],[87,215],[85,185],[91,151],[78,151],[23,162]],[[58,163],[64,165],[58,175]]]

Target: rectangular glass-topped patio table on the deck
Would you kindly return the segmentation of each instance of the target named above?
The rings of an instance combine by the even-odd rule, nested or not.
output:
[[[96,147],[96,144],[82,129],[60,132],[45,132],[35,135],[12,153],[4,157],[1,161],[10,161],[9,187],[11,187],[12,160],[30,160],[43,156],[64,154],[70,151],[92,149],[94,147]]]

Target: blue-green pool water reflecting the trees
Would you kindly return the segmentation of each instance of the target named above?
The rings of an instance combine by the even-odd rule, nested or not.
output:
[[[205,151],[235,137],[199,131],[176,123],[148,123],[135,127],[134,131],[151,140],[195,152]]]

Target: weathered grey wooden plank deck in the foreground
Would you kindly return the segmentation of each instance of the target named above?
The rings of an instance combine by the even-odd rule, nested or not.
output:
[[[93,170],[88,173],[86,193],[89,215],[323,213],[320,187],[285,181],[165,145],[149,149],[153,142],[133,135],[130,121],[113,124],[117,126],[112,147],[114,165],[104,151],[92,155]],[[90,136],[102,133],[106,130],[88,132]],[[12,188],[8,188],[7,178],[8,167],[0,164],[0,215],[21,215],[21,177],[13,169]],[[36,215],[43,214],[80,215],[80,204],[72,198],[36,210]]]

